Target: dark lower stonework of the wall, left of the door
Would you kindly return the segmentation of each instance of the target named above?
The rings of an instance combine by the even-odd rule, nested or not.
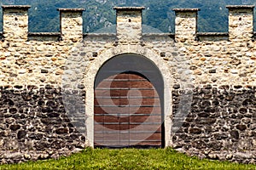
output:
[[[70,95],[74,93],[85,95],[83,90]],[[67,116],[61,88],[0,87],[0,105],[1,163],[57,158],[84,149],[85,136]],[[85,126],[85,117],[76,121]]]

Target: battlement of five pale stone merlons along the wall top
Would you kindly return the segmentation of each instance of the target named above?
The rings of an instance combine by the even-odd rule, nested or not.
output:
[[[61,32],[55,33],[28,32],[28,9],[30,8],[28,5],[3,5],[2,8],[3,32],[0,32],[0,37],[4,40],[40,40],[40,37],[44,37],[55,41],[78,42],[84,37],[82,19],[84,8],[58,8],[57,10],[60,11]],[[229,9],[229,32],[225,33],[198,32],[197,20],[200,8],[173,8],[172,10],[176,14],[174,36],[176,41],[203,41],[210,39],[213,41],[244,41],[254,39],[254,6],[228,5],[226,8]],[[141,41],[143,39],[142,11],[144,7],[114,7],[113,9],[116,10],[117,15],[116,37],[119,42]]]

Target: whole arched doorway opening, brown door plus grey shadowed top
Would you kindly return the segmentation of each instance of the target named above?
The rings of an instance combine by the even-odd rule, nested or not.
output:
[[[94,145],[164,146],[164,83],[151,60],[137,54],[109,59],[95,80]]]

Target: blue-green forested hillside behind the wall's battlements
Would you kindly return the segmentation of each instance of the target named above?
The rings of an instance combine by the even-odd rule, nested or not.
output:
[[[226,5],[256,4],[255,0],[1,0],[3,4],[28,4],[30,31],[59,31],[59,12],[56,8],[86,8],[84,32],[97,31],[115,24],[113,6],[144,6],[143,24],[163,32],[174,31],[175,14],[172,8],[201,8],[199,31],[227,31]],[[2,8],[0,9],[2,15]],[[2,30],[2,16],[0,17]],[[109,30],[109,29],[106,29]]]

